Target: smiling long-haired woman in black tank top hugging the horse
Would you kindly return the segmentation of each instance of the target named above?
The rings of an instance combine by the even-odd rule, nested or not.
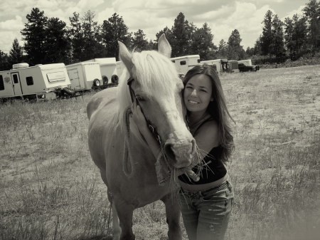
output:
[[[214,68],[193,67],[186,73],[183,84],[186,120],[201,158],[193,167],[197,178],[191,179],[186,174],[178,177],[183,223],[190,240],[224,239],[233,202],[233,187],[224,165],[234,148],[228,124],[228,118],[232,118]],[[139,130],[157,157],[160,147],[152,140],[148,127],[141,124],[145,122],[141,109],[134,105],[132,111],[134,121],[140,122]]]

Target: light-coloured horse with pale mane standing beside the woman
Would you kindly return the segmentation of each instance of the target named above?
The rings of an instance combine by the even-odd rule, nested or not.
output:
[[[164,34],[159,38],[158,51],[129,52],[123,43],[118,44],[119,58],[126,67],[119,85],[96,93],[87,104],[88,145],[107,185],[113,238],[135,239],[134,209],[161,199],[169,240],[181,240],[176,189],[170,181],[159,184],[157,157],[131,121],[130,107],[134,101],[139,103],[159,140],[161,155],[172,169],[186,168],[196,153],[196,142],[184,118],[183,83],[170,60],[171,46]]]

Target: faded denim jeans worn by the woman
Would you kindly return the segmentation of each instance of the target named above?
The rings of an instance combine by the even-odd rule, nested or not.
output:
[[[223,240],[233,204],[229,180],[198,192],[180,189],[183,224],[189,240]]]

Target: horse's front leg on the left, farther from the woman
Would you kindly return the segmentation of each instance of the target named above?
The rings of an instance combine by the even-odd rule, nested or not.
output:
[[[122,201],[122,199],[114,198],[114,207],[119,217],[121,227],[120,240],[134,240],[135,236],[132,232],[132,217],[135,207],[132,204]]]

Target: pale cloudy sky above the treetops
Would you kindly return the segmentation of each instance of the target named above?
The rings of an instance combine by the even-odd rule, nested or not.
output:
[[[95,21],[102,24],[112,14],[122,16],[129,32],[142,29],[148,40],[155,40],[156,33],[166,26],[171,28],[174,19],[182,12],[188,22],[201,28],[206,22],[213,33],[213,43],[221,39],[228,42],[234,29],[240,33],[240,45],[252,48],[262,34],[261,24],[271,10],[284,21],[294,14],[302,16],[302,9],[309,0],[1,0],[0,1],[0,50],[9,53],[14,38],[23,46],[21,29],[26,24],[26,15],[38,7],[45,16],[57,17],[70,25],[73,12],[84,16],[90,10]]]

